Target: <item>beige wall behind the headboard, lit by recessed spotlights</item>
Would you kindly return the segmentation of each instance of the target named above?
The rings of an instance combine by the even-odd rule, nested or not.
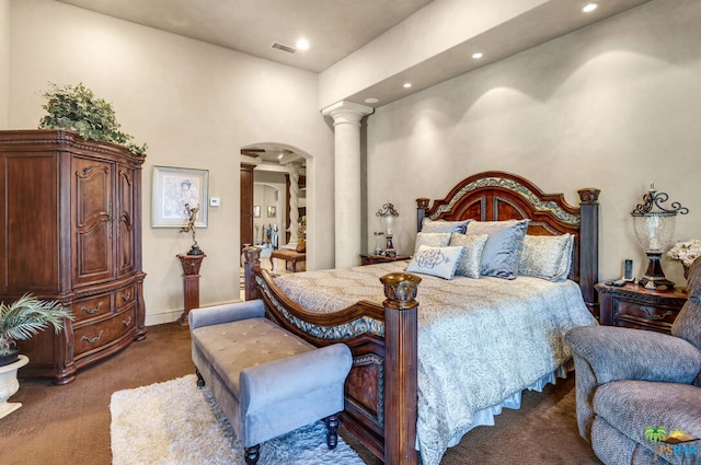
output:
[[[598,187],[600,278],[644,271],[630,212],[650,182],[690,209],[677,240],[701,237],[701,2],[656,0],[380,107],[368,118],[368,244],[374,212],[400,211],[411,252],[417,197],[503,170],[578,204]],[[663,263],[683,284],[681,266]]]

